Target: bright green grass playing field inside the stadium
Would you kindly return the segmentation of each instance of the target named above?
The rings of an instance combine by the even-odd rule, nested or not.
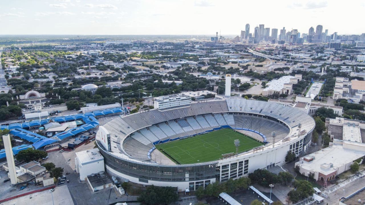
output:
[[[157,144],[156,148],[179,164],[209,162],[222,158],[222,154],[236,152],[236,139],[240,141],[238,152],[263,145],[255,139],[226,128],[192,138]]]

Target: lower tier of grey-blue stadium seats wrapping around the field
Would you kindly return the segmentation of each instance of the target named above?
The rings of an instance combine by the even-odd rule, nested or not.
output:
[[[149,151],[154,148],[154,142],[169,139],[184,138],[186,136],[203,133],[223,125],[230,125],[237,129],[251,129],[266,136],[269,142],[273,142],[272,132],[275,132],[275,142],[285,138],[289,129],[278,122],[265,117],[249,115],[228,115],[224,113],[205,114],[204,116],[187,117],[186,120],[170,120],[167,123],[159,123],[142,128],[120,144],[121,139],[112,137],[111,145],[121,152],[127,152],[132,158],[139,160],[151,160]],[[119,141],[118,141],[119,140]],[[123,147],[123,149],[122,149]]]

